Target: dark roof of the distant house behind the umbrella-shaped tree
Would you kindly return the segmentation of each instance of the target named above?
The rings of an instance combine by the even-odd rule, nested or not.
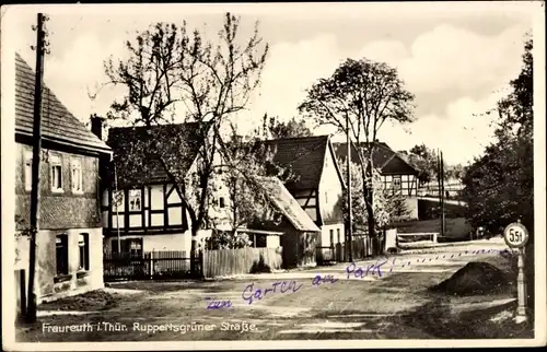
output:
[[[365,148],[365,143],[359,144]],[[348,156],[347,143],[333,143],[336,156],[345,161]],[[351,144],[351,161],[359,164],[359,156],[357,154],[356,144]],[[416,168],[410,166],[399,154],[394,152],[389,145],[384,142],[375,142],[372,151],[372,163],[374,167],[380,168],[382,175],[408,175],[417,174]]]

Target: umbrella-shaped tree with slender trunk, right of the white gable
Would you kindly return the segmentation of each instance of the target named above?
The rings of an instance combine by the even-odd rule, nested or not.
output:
[[[321,79],[307,91],[299,106],[302,114],[318,125],[331,125],[349,133],[357,145],[363,183],[363,202],[368,228],[374,235],[374,192],[370,181],[374,165],[374,142],[385,121],[412,120],[414,95],[405,90],[397,70],[383,62],[347,59],[327,79]],[[356,211],[357,212],[357,211]]]

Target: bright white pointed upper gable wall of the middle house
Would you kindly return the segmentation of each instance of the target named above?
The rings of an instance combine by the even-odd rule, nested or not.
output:
[[[340,197],[342,197],[342,183],[336,171],[333,155],[327,148],[319,181],[319,211],[323,224],[344,223]]]

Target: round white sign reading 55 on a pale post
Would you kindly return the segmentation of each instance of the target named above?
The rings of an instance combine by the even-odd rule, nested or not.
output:
[[[503,239],[510,248],[519,250],[519,274],[516,277],[517,303],[515,322],[521,324],[527,320],[526,315],[526,278],[524,275],[524,246],[528,242],[528,231],[521,224],[521,221],[509,224],[503,230]]]

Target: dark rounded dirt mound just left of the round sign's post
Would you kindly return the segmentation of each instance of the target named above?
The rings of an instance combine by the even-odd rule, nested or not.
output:
[[[494,266],[472,261],[430,290],[456,296],[470,296],[499,293],[507,290],[511,283],[508,274]]]

